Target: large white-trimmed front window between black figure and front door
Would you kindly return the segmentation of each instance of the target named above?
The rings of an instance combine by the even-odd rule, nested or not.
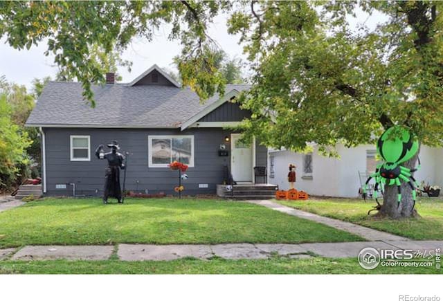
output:
[[[168,167],[174,161],[194,167],[194,136],[148,136],[149,167]]]

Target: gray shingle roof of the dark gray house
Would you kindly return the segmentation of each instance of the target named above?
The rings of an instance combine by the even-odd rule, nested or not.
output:
[[[248,88],[248,85],[228,84],[226,93]],[[219,99],[219,95],[215,95],[201,104],[189,88],[175,86],[105,84],[92,89],[95,108],[83,100],[80,83],[49,82],[26,125],[180,127]]]

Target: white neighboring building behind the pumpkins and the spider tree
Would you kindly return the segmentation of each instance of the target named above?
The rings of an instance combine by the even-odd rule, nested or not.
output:
[[[289,189],[288,165],[297,166],[297,190],[308,194],[329,197],[359,197],[358,172],[374,171],[376,165],[375,145],[347,148],[338,145],[340,158],[318,154],[316,147],[311,154],[299,154],[286,150],[269,150],[269,183]],[[419,154],[422,167],[415,172],[418,182],[443,186],[443,148],[421,147]]]

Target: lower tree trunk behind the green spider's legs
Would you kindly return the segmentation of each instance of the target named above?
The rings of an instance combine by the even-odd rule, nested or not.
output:
[[[418,153],[402,165],[413,169],[416,166]],[[414,173],[412,173],[414,176]],[[385,185],[383,204],[377,216],[401,219],[407,217],[419,217],[417,210],[413,209],[413,193],[408,183],[401,181],[401,202],[397,207],[397,185]]]

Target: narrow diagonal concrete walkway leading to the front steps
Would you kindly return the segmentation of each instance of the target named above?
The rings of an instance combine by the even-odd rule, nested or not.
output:
[[[382,232],[379,230],[374,230],[371,228],[348,223],[346,221],[339,221],[338,219],[331,219],[329,217],[322,217],[321,215],[315,215],[314,213],[309,213],[309,212],[294,209],[291,207],[283,206],[279,203],[275,203],[275,202],[269,201],[269,200],[247,201],[247,202],[261,205],[266,208],[270,208],[272,210],[280,211],[280,212],[286,213],[288,215],[293,215],[294,217],[300,217],[302,219],[309,219],[310,221],[316,221],[317,223],[358,235],[359,237],[363,237],[364,239],[366,239],[368,241],[408,241],[408,240],[410,240],[406,237],[393,235],[393,234]]]

